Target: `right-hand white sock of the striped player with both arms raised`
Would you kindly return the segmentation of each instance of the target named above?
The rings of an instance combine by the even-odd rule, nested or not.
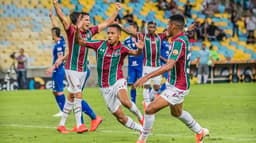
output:
[[[74,99],[74,113],[76,118],[76,126],[77,128],[82,125],[81,116],[82,116],[82,99],[75,98]]]

